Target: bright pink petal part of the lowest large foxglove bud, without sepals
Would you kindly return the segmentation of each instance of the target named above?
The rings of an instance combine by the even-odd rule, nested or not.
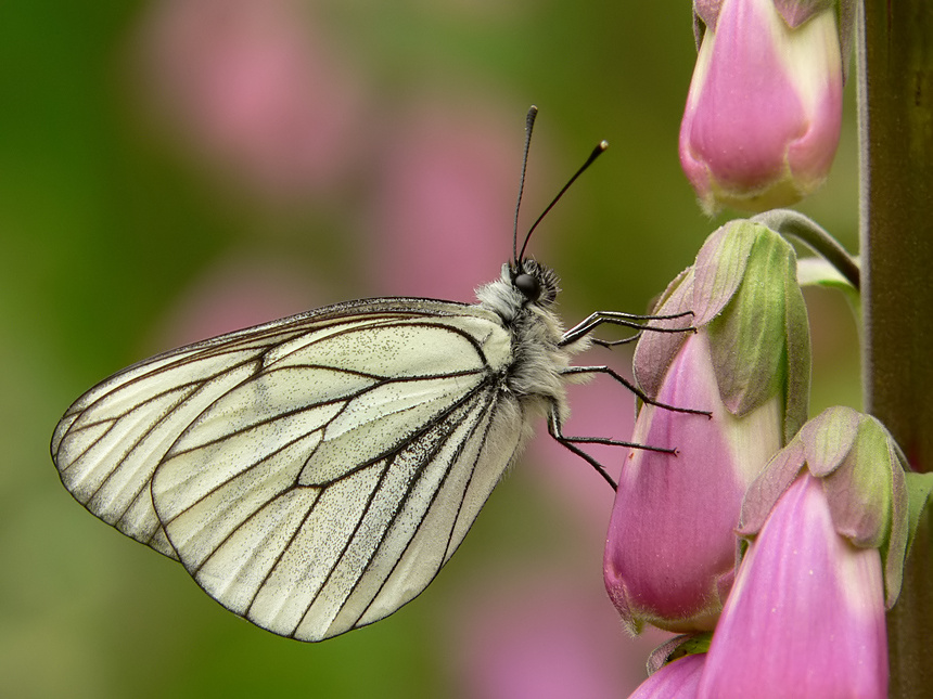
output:
[[[698,697],[885,697],[881,555],[840,535],[804,471],[749,547]]]

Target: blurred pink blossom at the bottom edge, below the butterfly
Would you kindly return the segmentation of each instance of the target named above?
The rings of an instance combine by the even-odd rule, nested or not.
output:
[[[592,584],[553,568],[502,577],[451,624],[460,697],[605,699],[644,678],[644,657],[661,636],[621,633],[598,575]]]

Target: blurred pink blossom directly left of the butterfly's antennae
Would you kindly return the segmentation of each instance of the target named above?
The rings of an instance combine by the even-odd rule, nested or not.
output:
[[[511,255],[521,120],[437,100],[400,116],[385,141],[367,223],[378,292],[475,301]]]

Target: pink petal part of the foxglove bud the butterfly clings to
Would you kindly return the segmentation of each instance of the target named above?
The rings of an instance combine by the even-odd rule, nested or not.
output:
[[[606,538],[606,590],[634,631],[646,621],[669,631],[710,630],[732,583],[742,496],[781,445],[783,402],[776,394],[732,415],[702,329],[683,342],[657,400],[712,410],[713,418],[641,409],[632,441],[678,454],[629,454]]]

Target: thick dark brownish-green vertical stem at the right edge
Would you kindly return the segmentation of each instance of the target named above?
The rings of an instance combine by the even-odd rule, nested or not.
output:
[[[864,0],[857,29],[864,390],[916,470],[933,469],[933,2]],[[891,696],[933,694],[933,510],[889,613]]]

